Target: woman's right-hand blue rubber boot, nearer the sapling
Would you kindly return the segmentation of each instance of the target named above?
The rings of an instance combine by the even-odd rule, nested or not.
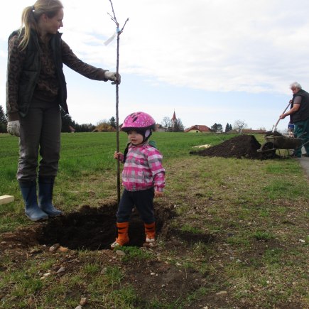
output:
[[[53,188],[55,177],[38,177],[38,206],[50,217],[57,217],[63,212],[53,205]]]

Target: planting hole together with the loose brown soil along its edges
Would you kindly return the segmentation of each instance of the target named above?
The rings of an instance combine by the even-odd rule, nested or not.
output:
[[[83,206],[76,212],[34,223],[30,227],[17,229],[1,235],[4,246],[28,248],[36,245],[60,246],[72,250],[110,249],[116,238],[116,205],[103,205],[99,208]],[[214,239],[212,234],[181,229],[170,224],[176,216],[173,205],[155,205],[156,235],[158,241],[166,241],[169,246],[178,246],[185,242],[189,246],[195,243],[207,244]],[[128,246],[143,246],[145,232],[143,222],[136,209],[129,221]]]

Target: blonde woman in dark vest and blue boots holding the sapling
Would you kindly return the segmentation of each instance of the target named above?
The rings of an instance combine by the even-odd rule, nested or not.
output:
[[[54,207],[52,198],[60,154],[59,105],[68,113],[63,63],[92,80],[120,83],[116,72],[78,59],[58,32],[62,26],[63,4],[59,0],[38,0],[23,9],[22,27],[9,36],[8,132],[20,137],[17,180],[26,216],[33,221],[62,213]]]

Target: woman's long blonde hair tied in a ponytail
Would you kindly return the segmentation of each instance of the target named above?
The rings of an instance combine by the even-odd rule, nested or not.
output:
[[[38,32],[38,19],[45,14],[48,18],[53,18],[60,9],[63,9],[63,4],[59,0],[37,0],[33,6],[27,6],[21,14],[21,31],[23,38],[19,44],[22,49],[25,49],[30,40],[31,29]]]

